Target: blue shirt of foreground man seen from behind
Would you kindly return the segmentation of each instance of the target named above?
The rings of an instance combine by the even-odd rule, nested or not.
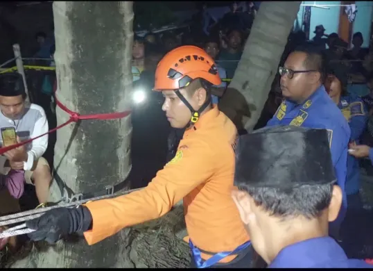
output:
[[[373,265],[347,258],[333,238],[320,237],[281,249],[268,268],[373,268]]]

